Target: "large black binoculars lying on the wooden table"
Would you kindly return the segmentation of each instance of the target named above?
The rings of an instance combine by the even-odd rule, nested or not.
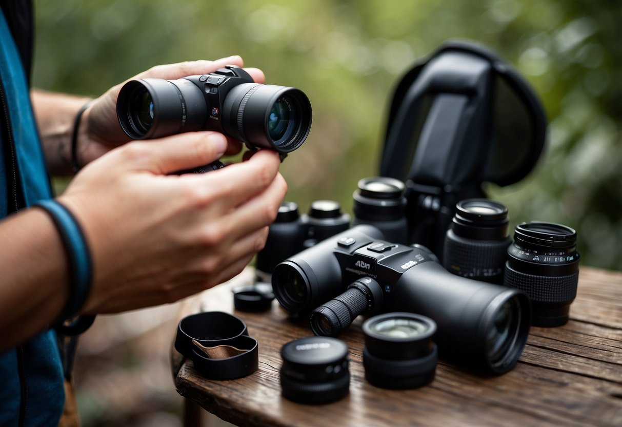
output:
[[[438,325],[442,355],[493,373],[516,364],[531,321],[522,291],[452,275],[429,250],[386,242],[371,225],[353,227],[277,265],[272,288],[294,313],[328,301],[318,323],[340,329],[374,309],[430,317]]]

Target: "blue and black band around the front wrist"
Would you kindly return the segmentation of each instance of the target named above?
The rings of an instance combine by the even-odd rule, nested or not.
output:
[[[75,317],[84,306],[93,282],[93,265],[84,233],[72,213],[56,200],[39,200],[33,206],[40,207],[52,217],[67,253],[69,296],[55,329],[65,335],[80,334],[91,326],[95,316],[80,316],[69,325],[65,321]]]

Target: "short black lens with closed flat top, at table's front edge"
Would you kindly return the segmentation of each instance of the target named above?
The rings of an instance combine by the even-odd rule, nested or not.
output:
[[[348,394],[348,346],[330,337],[305,337],[281,349],[283,397],[310,404],[329,403]]]

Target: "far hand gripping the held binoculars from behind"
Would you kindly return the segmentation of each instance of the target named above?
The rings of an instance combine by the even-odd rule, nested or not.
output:
[[[215,61],[198,60],[168,65],[157,65],[128,80],[140,78],[164,78],[173,80],[189,75],[201,75],[214,72],[225,65],[244,65],[239,56],[231,56]],[[256,83],[264,82],[264,73],[258,68],[245,68]],[[128,81],[126,80],[126,82]],[[116,101],[119,90],[126,83],[110,88],[106,93],[91,103],[82,116],[80,133],[78,134],[78,164],[85,166],[88,162],[100,157],[111,149],[127,143],[130,138],[124,133],[116,115]],[[226,155],[239,153],[241,144],[229,139]]]

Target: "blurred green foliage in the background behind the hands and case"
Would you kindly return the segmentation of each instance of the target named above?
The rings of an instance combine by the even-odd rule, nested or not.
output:
[[[378,173],[394,85],[450,38],[477,40],[536,88],[549,141],[536,171],[490,197],[511,221],[576,228],[584,265],[622,270],[618,1],[37,0],[34,83],[98,95],[158,63],[242,55],[304,90],[309,139],[282,166],[288,199],[339,200]]]

